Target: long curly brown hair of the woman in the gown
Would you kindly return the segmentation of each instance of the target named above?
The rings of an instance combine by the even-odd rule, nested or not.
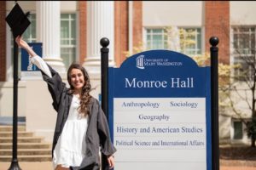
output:
[[[84,67],[78,63],[73,63],[72,65],[69,66],[68,71],[67,71],[67,81],[70,85],[70,93],[71,94],[74,93],[74,88],[71,83],[71,71],[73,69],[79,69],[80,71],[83,72],[83,75],[84,75],[84,86],[82,88],[82,94],[81,94],[81,99],[80,99],[79,114],[81,114],[82,116],[90,115],[89,104],[90,104],[90,99],[92,97],[90,95],[91,85],[90,85],[89,74],[84,69]]]

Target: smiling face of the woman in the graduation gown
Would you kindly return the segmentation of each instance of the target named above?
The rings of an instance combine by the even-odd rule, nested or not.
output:
[[[79,69],[72,69],[70,72],[71,85],[75,90],[80,90],[84,86],[84,74]]]

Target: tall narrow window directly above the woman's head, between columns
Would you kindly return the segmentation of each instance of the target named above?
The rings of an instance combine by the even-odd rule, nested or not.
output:
[[[76,14],[61,14],[61,58],[66,69],[76,60]]]

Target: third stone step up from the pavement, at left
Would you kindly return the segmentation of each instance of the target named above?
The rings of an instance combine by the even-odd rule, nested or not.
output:
[[[2,143],[0,144],[0,149],[12,149],[13,144]],[[18,143],[17,148],[19,149],[51,149],[51,144],[49,143]]]

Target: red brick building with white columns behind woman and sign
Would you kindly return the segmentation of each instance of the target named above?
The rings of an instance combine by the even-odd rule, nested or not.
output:
[[[219,62],[239,62],[232,54],[237,34],[249,35],[255,48],[255,2],[195,1],[195,2],[86,2],[86,1],[20,1],[23,10],[30,11],[31,26],[23,37],[27,42],[43,42],[43,58],[66,80],[65,72],[73,61],[79,61],[90,73],[100,91],[100,39],[110,40],[109,65],[119,66],[125,52],[168,48],[166,26],[194,31],[195,44],[183,48],[183,54],[195,56],[209,53],[209,38],[220,42]],[[12,44],[9,26],[4,18],[14,1],[0,2],[0,117],[12,116]],[[235,27],[244,28],[237,33]],[[241,41],[242,43],[242,41]],[[242,46],[242,45],[241,45]],[[172,50],[172,48],[170,49]],[[47,87],[40,77],[22,77],[19,82],[19,116],[26,117],[27,130],[51,139],[55,111]],[[40,88],[38,88],[40,87]],[[40,108],[40,109],[38,109]],[[244,125],[233,114],[220,114],[220,139],[227,142],[247,142]],[[53,121],[49,121],[53,120]],[[236,136],[238,134],[238,136]]]

